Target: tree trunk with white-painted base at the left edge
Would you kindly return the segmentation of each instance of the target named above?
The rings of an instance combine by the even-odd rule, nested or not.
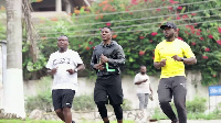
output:
[[[7,80],[4,111],[25,118],[22,77],[22,0],[7,2]]]

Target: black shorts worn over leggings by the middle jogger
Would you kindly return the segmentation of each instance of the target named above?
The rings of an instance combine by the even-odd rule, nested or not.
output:
[[[123,89],[122,79],[119,75],[115,75],[108,78],[97,78],[94,88],[94,101],[106,101],[110,104],[122,104],[123,103]]]

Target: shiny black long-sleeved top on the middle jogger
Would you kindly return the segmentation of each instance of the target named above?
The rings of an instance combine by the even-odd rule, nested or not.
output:
[[[99,63],[101,55],[104,55],[108,58],[108,62],[104,64],[104,70],[97,70],[94,68],[95,64]],[[112,41],[110,44],[104,45],[101,43],[94,48],[91,66],[93,69],[96,70],[98,77],[108,77],[114,75],[119,75],[119,66],[125,64],[125,54],[119,44],[115,41]]]

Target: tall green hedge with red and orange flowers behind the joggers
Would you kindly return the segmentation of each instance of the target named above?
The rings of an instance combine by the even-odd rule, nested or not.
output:
[[[67,20],[42,19],[36,25],[41,36],[38,42],[41,56],[36,63],[33,63],[32,56],[28,55],[29,44],[23,44],[24,79],[45,75],[43,68],[50,54],[57,51],[56,37],[61,34],[69,36],[70,48],[77,51],[86,65],[86,70],[80,72],[80,76],[94,76],[95,74],[90,68],[90,60],[94,46],[102,42],[99,29],[103,26],[113,29],[113,40],[124,48],[126,55],[124,75],[135,75],[140,65],[146,65],[148,75],[157,76],[159,70],[154,67],[152,59],[156,45],[164,40],[159,25],[171,21],[179,27],[179,38],[190,45],[198,59],[197,65],[187,65],[186,68],[200,70],[203,85],[215,85],[221,77],[221,14],[218,9],[221,7],[221,1],[192,2],[199,2],[199,0],[179,0],[181,5],[168,0],[134,2],[105,0],[94,2],[91,8],[82,7],[80,10],[74,10],[75,13]],[[4,32],[6,27],[1,26],[0,31]],[[1,35],[0,38],[2,38]]]

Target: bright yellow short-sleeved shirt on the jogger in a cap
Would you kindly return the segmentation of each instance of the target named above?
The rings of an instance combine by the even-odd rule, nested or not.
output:
[[[185,64],[177,62],[172,56],[178,55],[179,57],[186,56],[187,58],[194,57],[190,46],[176,38],[173,42],[167,42],[166,40],[159,43],[155,49],[155,62],[161,62],[166,59],[166,66],[161,67],[160,78],[169,78],[175,76],[185,75]]]

